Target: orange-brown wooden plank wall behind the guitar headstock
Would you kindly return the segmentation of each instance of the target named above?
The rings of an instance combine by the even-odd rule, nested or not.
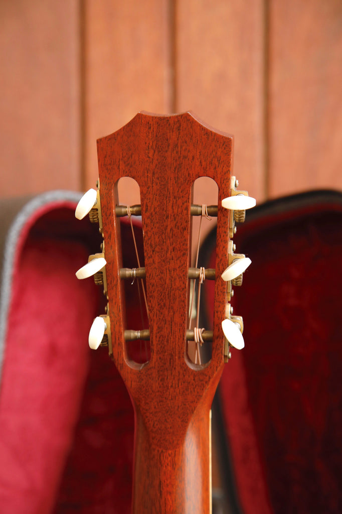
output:
[[[140,110],[235,135],[259,201],[342,189],[340,0],[0,2],[1,196],[94,187]]]

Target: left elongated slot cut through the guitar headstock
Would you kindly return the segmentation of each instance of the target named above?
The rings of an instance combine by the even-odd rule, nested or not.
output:
[[[115,185],[115,216],[120,245],[122,249],[120,261],[121,290],[124,298],[124,332],[144,333],[148,331],[148,314],[145,302],[144,245],[141,229],[140,187],[137,180],[121,177]],[[134,198],[137,204],[130,206],[128,201]],[[122,230],[123,226],[124,232]],[[137,272],[138,270],[138,272]],[[124,272],[126,271],[126,273]],[[130,277],[129,277],[130,275]],[[138,301],[137,301],[138,299]],[[143,364],[150,358],[150,343],[146,337],[125,337],[126,358],[130,362]]]

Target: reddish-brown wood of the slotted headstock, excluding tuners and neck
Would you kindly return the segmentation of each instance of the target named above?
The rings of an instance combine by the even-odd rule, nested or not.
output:
[[[230,194],[232,144],[232,137],[210,130],[189,113],[139,113],[119,131],[98,140],[113,358],[133,397],[150,387],[154,397],[160,394],[159,403],[169,404],[175,388],[195,387],[198,401],[201,389],[223,364],[226,283],[220,276],[227,266],[229,211],[220,203]],[[130,327],[125,326],[116,207],[118,180],[126,176],[138,182],[141,196],[151,352],[143,366],[128,360],[124,337]],[[216,181],[219,199],[213,351],[206,366],[194,365],[186,352],[192,187],[201,176]]]

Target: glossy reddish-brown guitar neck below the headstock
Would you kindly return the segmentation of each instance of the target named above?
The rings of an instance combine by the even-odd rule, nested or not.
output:
[[[208,514],[211,491],[211,411],[207,402],[193,413],[185,432],[175,420],[173,440],[161,446],[137,409],[132,512]]]

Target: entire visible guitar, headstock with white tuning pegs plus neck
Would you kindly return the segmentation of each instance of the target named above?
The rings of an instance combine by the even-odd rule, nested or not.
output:
[[[250,264],[234,253],[232,238],[235,223],[255,205],[246,191],[236,190],[232,146],[232,136],[190,113],[139,113],[98,140],[98,189],[89,190],[75,212],[79,218],[89,213],[103,235],[101,250],[77,277],[93,275],[103,284],[106,312],[94,320],[89,344],[108,346],[134,406],[134,514],[212,511],[211,405],[231,347],[244,345],[242,318],[232,315],[230,300]],[[121,177],[138,182],[139,205],[119,203]],[[199,177],[216,182],[217,205],[193,203]],[[137,248],[137,267],[127,268],[120,224],[126,218],[134,237],[135,216],[141,216],[144,255]],[[215,269],[196,259],[192,266],[195,217],[217,218]],[[203,280],[215,281],[212,327],[198,326]],[[132,319],[126,314],[130,287],[141,298],[135,326],[126,322]]]

